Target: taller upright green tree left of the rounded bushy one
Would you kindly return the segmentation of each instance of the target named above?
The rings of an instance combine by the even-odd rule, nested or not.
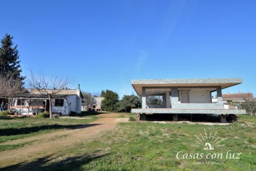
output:
[[[117,103],[119,101],[119,96],[112,90],[106,90],[104,95],[104,100],[102,100],[102,109],[114,112],[117,111]]]

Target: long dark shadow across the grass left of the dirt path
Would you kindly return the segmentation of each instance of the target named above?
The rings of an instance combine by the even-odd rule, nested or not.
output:
[[[23,128],[4,128],[0,129],[0,136],[9,136],[9,135],[23,135],[36,133],[41,130],[58,130],[58,129],[81,129],[88,128],[99,124],[85,124],[85,125],[40,125],[33,127],[23,127]]]

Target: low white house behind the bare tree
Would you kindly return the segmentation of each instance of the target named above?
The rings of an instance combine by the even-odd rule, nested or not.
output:
[[[52,113],[70,115],[71,112],[81,113],[82,93],[78,86],[75,90],[57,90],[52,99]],[[41,95],[38,90],[31,89],[30,93],[11,98],[10,108],[21,115],[36,115],[49,111],[47,95]]]

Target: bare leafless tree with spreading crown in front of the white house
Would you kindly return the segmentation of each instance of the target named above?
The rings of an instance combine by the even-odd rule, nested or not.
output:
[[[26,82],[28,83],[29,88],[36,89],[41,95],[48,96],[50,103],[50,118],[53,118],[52,99],[55,97],[55,95],[58,95],[60,90],[68,88],[71,83],[68,77],[63,78],[63,76],[51,76],[50,78],[47,78],[42,73],[35,76],[32,71],[30,77],[26,78]]]

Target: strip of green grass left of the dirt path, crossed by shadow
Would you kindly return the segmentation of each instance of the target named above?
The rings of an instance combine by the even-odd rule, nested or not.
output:
[[[95,116],[90,116],[90,118],[78,120],[0,117],[0,142],[28,138],[61,129],[72,129],[97,119]]]

